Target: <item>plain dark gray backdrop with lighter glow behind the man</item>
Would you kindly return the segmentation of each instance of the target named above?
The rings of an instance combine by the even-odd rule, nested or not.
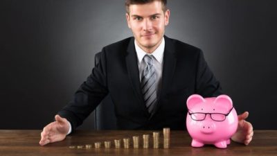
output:
[[[168,1],[166,35],[204,51],[255,129],[277,129],[276,4]],[[123,0],[1,0],[0,12],[0,129],[42,129],[89,76],[94,54],[132,35]],[[81,128],[93,129],[93,115]]]

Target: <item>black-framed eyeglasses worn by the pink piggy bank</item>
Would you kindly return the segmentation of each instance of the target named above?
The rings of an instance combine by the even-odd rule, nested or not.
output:
[[[195,121],[203,121],[206,119],[206,115],[210,114],[211,119],[213,121],[224,121],[226,119],[226,116],[230,114],[230,112],[233,110],[233,107],[227,114],[222,114],[222,113],[204,113],[204,112],[191,112],[188,110],[188,114],[190,114],[191,119]]]

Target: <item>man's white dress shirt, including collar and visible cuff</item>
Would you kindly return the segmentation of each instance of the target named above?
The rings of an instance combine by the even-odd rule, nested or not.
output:
[[[164,38],[161,41],[161,44],[157,47],[156,50],[153,51],[153,53],[148,54],[141,47],[139,47],[138,44],[136,44],[136,40],[134,41],[134,46],[136,49],[136,55],[138,56],[138,66],[139,66],[139,79],[143,77],[143,70],[145,69],[146,63],[143,61],[144,55],[153,55],[154,56],[154,69],[156,73],[156,88],[157,88],[157,94],[159,95],[159,92],[161,90],[161,74],[163,73],[163,52],[165,49],[165,40]],[[67,135],[69,135],[72,131],[71,123],[69,123],[69,132],[67,132]]]

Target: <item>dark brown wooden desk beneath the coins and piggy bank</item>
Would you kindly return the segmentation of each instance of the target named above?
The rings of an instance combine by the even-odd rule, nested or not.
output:
[[[171,131],[170,149],[163,149],[162,144],[160,144],[159,149],[143,149],[141,145],[143,141],[142,135],[151,134],[152,131],[78,130],[73,135],[66,137],[64,141],[46,146],[39,146],[40,132],[41,130],[0,130],[0,155],[277,155],[277,130],[256,130],[253,141],[249,146],[232,141],[231,145],[226,149],[218,149],[214,146],[192,148],[190,147],[190,136],[184,131]],[[139,149],[114,148],[114,139],[123,140],[125,137],[132,138],[133,135],[140,136]],[[109,149],[103,147],[103,141],[107,140],[112,143]],[[152,147],[152,139],[150,140],[150,146]],[[102,142],[102,148],[69,148],[72,145],[93,144],[94,146],[96,141]],[[162,141],[161,137],[160,142]],[[123,141],[121,144],[123,144]]]

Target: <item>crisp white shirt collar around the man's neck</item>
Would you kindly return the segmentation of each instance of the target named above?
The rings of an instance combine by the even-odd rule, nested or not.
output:
[[[141,61],[143,60],[143,57],[146,53],[145,51],[143,51],[143,49],[141,49],[141,47],[139,47],[138,44],[136,44],[136,40],[134,40],[134,46],[136,49],[136,55],[138,56],[138,60],[139,60],[139,64],[141,63]],[[163,52],[166,46],[166,42],[163,39],[161,40],[161,44],[157,47],[156,50],[153,51],[153,53],[151,53],[151,55],[154,56],[154,58],[161,64],[163,62]],[[149,54],[148,54],[149,55]]]

